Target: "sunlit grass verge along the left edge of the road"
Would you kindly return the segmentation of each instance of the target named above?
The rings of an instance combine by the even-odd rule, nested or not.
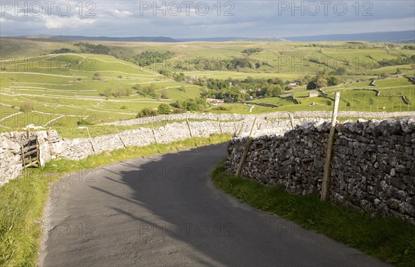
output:
[[[82,169],[91,169],[120,160],[218,144],[231,139],[228,133],[208,138],[190,138],[169,144],[127,147],[105,151],[84,160],[57,160],[43,168],[26,169],[0,187],[0,266],[35,266],[42,233],[42,215],[50,183]]]

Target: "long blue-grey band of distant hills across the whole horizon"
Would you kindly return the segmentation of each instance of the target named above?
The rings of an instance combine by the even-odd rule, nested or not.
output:
[[[415,42],[415,31],[405,30],[400,32],[383,33],[352,33],[346,35],[312,35],[297,37],[208,37],[208,38],[180,38],[172,37],[90,37],[71,35],[26,35],[15,36],[30,39],[50,40],[80,40],[80,41],[114,41],[114,42],[235,42],[235,41],[261,41],[261,42],[322,42],[322,41],[366,41],[366,42]]]

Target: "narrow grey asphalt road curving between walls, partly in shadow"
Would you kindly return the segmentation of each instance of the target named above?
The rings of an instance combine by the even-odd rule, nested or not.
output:
[[[39,265],[386,266],[216,190],[209,173],[225,153],[210,145],[63,178]]]

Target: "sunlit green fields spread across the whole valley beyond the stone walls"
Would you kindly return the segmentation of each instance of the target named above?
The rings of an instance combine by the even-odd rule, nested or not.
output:
[[[383,59],[405,59],[413,50],[403,50],[403,44],[388,47],[384,43],[370,42],[98,42],[111,48],[111,55],[82,53],[75,41],[48,39],[0,38],[0,130],[21,129],[26,125],[74,127],[80,120],[91,124],[134,118],[143,108],[156,109],[159,104],[173,104],[176,100],[198,98],[201,86],[176,82],[172,77],[158,73],[167,70],[183,72],[190,79],[228,78],[243,80],[246,77],[275,78],[292,82],[304,75],[331,73],[343,68],[338,75],[340,86],[324,88],[333,97],[341,93],[340,110],[343,111],[414,111],[415,88],[406,76],[414,76],[413,64],[380,66]],[[54,54],[60,48],[73,53]],[[247,48],[259,48],[250,55]],[[170,51],[172,58],[164,62],[141,67],[123,59],[144,51]],[[258,67],[226,70],[223,64],[232,57],[248,59]],[[218,68],[203,69],[204,62],[215,62]],[[180,64],[178,64],[180,63]],[[216,66],[216,65],[214,65]],[[395,75],[397,68],[399,76]],[[379,80],[386,73],[387,79]],[[375,86],[369,79],[376,80]],[[131,90],[133,86],[154,84],[164,98],[143,96],[136,91],[124,96],[106,96]],[[376,89],[357,91],[356,89]],[[410,104],[398,95],[405,95]],[[275,104],[278,107],[261,107],[249,104],[223,104],[222,110],[210,107],[214,113],[264,113],[272,111],[329,111],[333,101],[319,96],[308,98],[306,86],[285,91],[282,98],[261,98],[255,103]],[[293,96],[300,104],[293,102]],[[414,101],[412,101],[414,100]],[[24,104],[32,111],[19,113]]]

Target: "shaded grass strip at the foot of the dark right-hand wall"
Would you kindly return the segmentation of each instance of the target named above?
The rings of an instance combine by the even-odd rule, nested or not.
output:
[[[415,226],[398,219],[371,218],[342,205],[322,202],[317,195],[300,196],[276,185],[261,185],[225,172],[218,165],[214,185],[252,207],[314,230],[395,266],[415,266]]]

